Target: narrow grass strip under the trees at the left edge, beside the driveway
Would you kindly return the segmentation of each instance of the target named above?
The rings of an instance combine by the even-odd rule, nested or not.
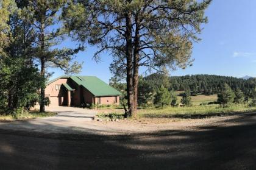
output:
[[[0,115],[0,121],[13,121],[13,120],[23,120],[23,119],[32,119],[32,118],[43,118],[43,117],[49,117],[54,116],[57,113],[53,112],[24,112],[18,115]]]

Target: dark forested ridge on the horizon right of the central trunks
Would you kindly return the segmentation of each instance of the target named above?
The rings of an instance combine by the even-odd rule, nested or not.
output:
[[[255,79],[238,79],[236,77],[216,76],[207,74],[172,76],[166,77],[165,74],[151,74],[143,78],[150,82],[154,87],[159,87],[161,83],[169,90],[185,91],[188,88],[194,93],[217,94],[227,83],[232,90],[240,88],[244,93],[255,88]]]

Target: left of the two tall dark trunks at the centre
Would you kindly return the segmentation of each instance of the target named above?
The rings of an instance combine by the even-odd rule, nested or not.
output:
[[[132,83],[132,20],[131,13],[126,15],[126,83],[127,83],[127,104],[128,112],[127,116],[131,116],[133,113],[133,83]]]

